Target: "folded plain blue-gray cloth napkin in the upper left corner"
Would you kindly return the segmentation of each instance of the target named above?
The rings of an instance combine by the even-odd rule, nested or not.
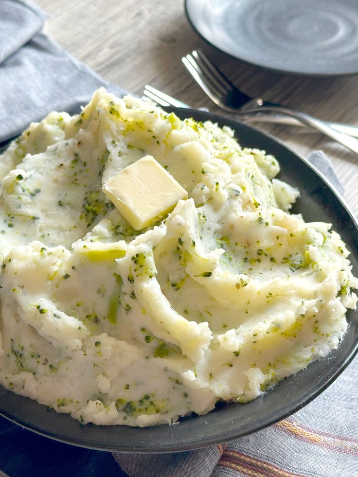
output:
[[[78,112],[101,86],[125,93],[41,33],[46,18],[29,2],[0,0],[0,144],[50,111]]]

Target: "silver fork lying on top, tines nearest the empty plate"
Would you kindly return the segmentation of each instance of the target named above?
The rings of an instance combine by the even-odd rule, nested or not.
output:
[[[299,123],[316,129],[358,154],[358,127],[349,124],[329,123],[296,109],[270,103],[261,98],[251,98],[233,86],[200,50],[195,50],[191,54],[183,56],[182,62],[197,84],[222,109],[240,115],[259,112],[277,113],[280,115],[280,122],[285,120],[286,117],[289,124]],[[263,119],[263,116],[261,116],[261,119]],[[292,120],[295,123],[292,123]]]

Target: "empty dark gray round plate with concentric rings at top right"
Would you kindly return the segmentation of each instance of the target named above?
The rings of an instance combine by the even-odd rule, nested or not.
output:
[[[187,17],[210,44],[269,70],[358,72],[357,0],[186,0]]]

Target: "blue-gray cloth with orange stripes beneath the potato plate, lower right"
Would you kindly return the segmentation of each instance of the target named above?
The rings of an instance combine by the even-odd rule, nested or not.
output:
[[[207,449],[115,454],[130,477],[357,477],[358,358],[312,403],[267,429]]]

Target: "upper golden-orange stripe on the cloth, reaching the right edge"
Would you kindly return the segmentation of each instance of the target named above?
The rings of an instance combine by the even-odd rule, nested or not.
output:
[[[317,444],[327,449],[343,452],[344,454],[358,456],[358,445],[355,443],[343,442],[341,439],[337,439],[336,437],[322,437],[318,433],[309,432],[303,427],[288,420],[274,424],[274,427],[284,431],[287,434],[294,435],[301,441]]]

